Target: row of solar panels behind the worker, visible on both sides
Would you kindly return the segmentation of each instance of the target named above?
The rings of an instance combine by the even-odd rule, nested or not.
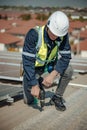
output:
[[[74,72],[87,73],[87,58],[73,57],[70,64]],[[0,79],[22,81],[22,55],[19,52],[0,52]]]

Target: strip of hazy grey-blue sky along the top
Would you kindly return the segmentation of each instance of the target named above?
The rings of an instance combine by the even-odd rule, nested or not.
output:
[[[0,5],[86,8],[87,0],[0,0]]]

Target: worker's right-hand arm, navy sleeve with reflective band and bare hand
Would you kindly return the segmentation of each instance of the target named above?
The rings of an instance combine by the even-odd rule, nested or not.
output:
[[[69,45],[68,34],[64,37],[59,47],[60,58],[57,60],[54,70],[44,78],[43,84],[50,87],[56,78],[67,69],[71,59],[71,48]]]

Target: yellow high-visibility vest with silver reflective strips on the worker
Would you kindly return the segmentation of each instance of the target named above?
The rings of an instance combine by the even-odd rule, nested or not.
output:
[[[37,54],[36,54],[36,67],[44,66],[44,64],[48,64],[49,62],[55,60],[55,58],[58,56],[58,46],[60,45],[60,42],[55,41],[54,44],[56,46],[51,50],[51,53],[49,57],[47,57],[48,48],[47,44],[44,41],[44,26],[36,27],[36,30],[38,32],[38,42],[36,45]],[[63,38],[61,38],[62,40]]]

